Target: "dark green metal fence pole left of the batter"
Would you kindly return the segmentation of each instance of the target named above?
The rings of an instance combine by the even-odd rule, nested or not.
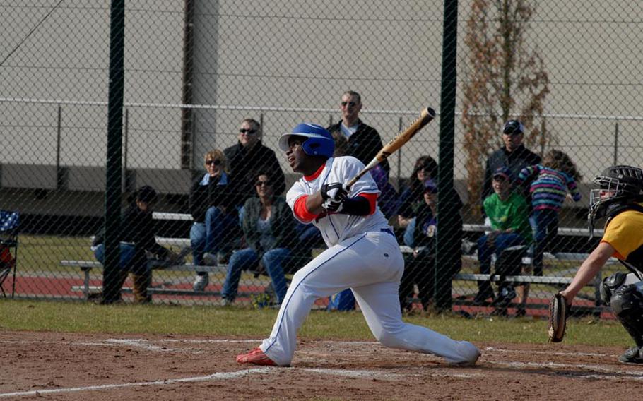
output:
[[[125,45],[125,0],[112,0],[110,16],[110,93],[107,104],[107,160],[105,162],[105,269],[102,302],[120,297],[119,229],[122,193],[122,132]]]

